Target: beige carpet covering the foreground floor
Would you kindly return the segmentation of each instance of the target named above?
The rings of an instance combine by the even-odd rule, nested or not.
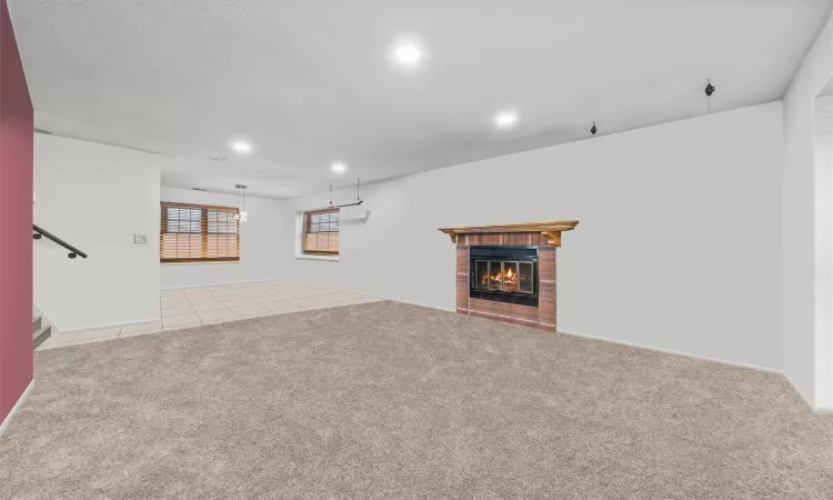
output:
[[[377,302],[36,353],[2,498],[833,498],[780,376]]]

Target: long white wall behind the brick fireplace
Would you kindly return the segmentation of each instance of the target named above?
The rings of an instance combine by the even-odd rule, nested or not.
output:
[[[782,123],[775,102],[369,184],[339,262],[293,257],[295,211],[328,197],[290,200],[284,276],[453,310],[438,228],[578,219],[561,330],[780,369]]]

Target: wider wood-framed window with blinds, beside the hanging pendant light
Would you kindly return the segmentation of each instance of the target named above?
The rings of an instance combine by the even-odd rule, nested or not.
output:
[[[161,262],[238,262],[238,209],[162,202]]]

